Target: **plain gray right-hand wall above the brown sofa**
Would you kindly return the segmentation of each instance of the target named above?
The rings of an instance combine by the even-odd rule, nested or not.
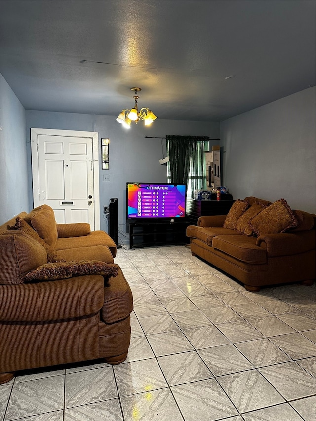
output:
[[[221,122],[220,138],[234,199],[284,198],[315,213],[315,87]]]

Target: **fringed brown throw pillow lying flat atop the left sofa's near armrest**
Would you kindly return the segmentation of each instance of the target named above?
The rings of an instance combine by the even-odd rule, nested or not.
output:
[[[118,267],[98,260],[47,263],[27,273],[25,281],[52,281],[82,275],[117,276]]]

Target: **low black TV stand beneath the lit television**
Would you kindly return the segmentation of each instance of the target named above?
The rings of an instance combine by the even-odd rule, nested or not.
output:
[[[153,247],[168,244],[187,244],[188,220],[129,222],[129,248]]]

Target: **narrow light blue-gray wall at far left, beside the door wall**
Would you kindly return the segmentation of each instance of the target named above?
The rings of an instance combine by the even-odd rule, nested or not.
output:
[[[25,110],[0,74],[0,224],[29,209]]]

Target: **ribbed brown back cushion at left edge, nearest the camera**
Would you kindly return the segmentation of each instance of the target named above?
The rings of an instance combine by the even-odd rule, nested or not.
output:
[[[0,284],[21,284],[26,273],[45,263],[46,249],[24,232],[0,235]]]

